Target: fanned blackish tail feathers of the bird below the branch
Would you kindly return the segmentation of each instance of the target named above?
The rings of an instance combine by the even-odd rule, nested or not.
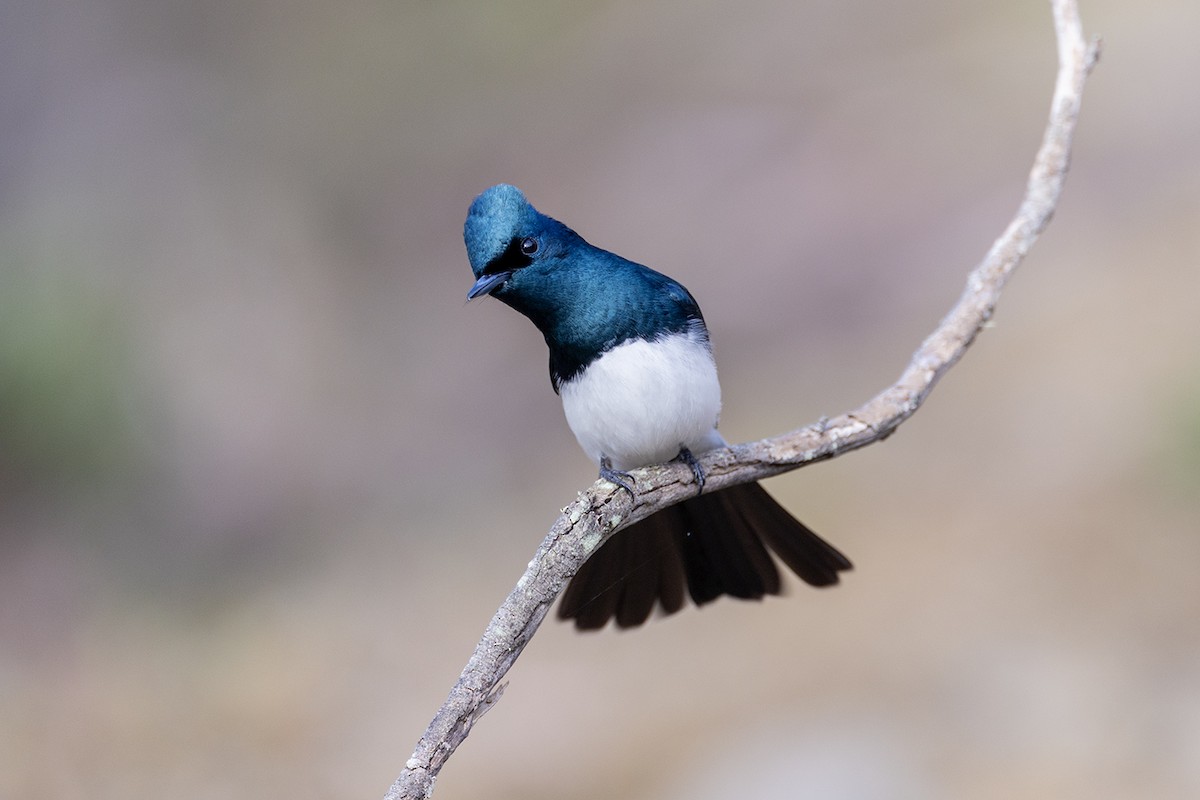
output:
[[[605,542],[566,587],[558,616],[574,619],[581,631],[612,618],[618,627],[635,627],[655,601],[666,614],[683,608],[684,585],[697,606],[721,595],[778,595],[770,553],[814,587],[835,584],[851,569],[764,488],[744,483],[664,509]]]

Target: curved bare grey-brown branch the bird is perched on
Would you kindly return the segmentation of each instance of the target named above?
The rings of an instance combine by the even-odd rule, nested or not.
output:
[[[895,384],[853,411],[773,439],[706,453],[701,464],[715,491],[833,458],[887,438],[916,413],[991,318],[1001,289],[1054,215],[1067,178],[1084,82],[1099,54],[1084,40],[1074,0],[1051,0],[1058,74],[1050,119],[1016,216],[967,276],[962,296],[913,354]],[[427,798],[438,771],[498,699],[500,680],[533,637],[551,604],[596,547],[632,522],[695,491],[680,465],[634,471],[630,499],[606,481],[582,493],[554,522],[516,588],[500,606],[450,696],[430,723],[386,800]]]

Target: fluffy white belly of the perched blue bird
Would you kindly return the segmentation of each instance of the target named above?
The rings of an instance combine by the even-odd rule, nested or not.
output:
[[[680,447],[701,453],[725,444],[716,432],[716,363],[691,331],[620,344],[559,393],[566,423],[593,463],[607,457],[628,470],[671,461]]]

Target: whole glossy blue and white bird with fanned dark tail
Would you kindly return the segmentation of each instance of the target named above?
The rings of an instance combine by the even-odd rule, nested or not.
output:
[[[601,249],[499,184],[470,204],[463,241],[475,283],[538,327],[566,423],[600,477],[634,494],[629,470],[682,461],[698,493],[613,535],[571,578],[558,616],[592,631],[642,625],[722,595],[780,594],[774,553],[814,587],[850,560],[758,483],[706,493],[697,456],[727,446],[721,387],[700,305],[679,282]]]

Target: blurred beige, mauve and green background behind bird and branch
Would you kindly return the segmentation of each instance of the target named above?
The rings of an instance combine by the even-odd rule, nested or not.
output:
[[[1200,5],[1087,1],[1060,211],[836,589],[547,621],[455,798],[1200,796]],[[10,0],[0,798],[376,798],[595,477],[498,181],[706,311],[722,431],[889,384],[1007,224],[1048,4]]]

